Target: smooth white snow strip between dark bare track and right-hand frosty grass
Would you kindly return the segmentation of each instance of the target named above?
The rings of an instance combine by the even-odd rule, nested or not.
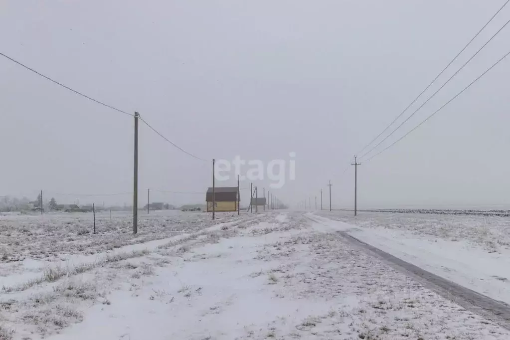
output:
[[[505,248],[488,251],[470,240],[433,237],[411,229],[413,226],[369,228],[314,216],[324,230],[346,231],[426,271],[510,304],[510,251]]]

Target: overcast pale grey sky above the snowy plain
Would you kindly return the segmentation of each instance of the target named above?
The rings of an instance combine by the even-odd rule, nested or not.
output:
[[[9,1],[0,50],[121,110],[205,159],[289,159],[285,202],[350,207],[352,155],[393,120],[503,1]],[[505,8],[433,93],[510,19]],[[504,55],[501,32],[387,142]],[[132,191],[133,119],[0,58],[0,195]],[[359,168],[361,207],[510,207],[510,59],[415,133]],[[426,97],[421,99],[421,103]],[[414,110],[410,111],[412,113]],[[384,145],[388,145],[385,143]],[[211,164],[140,126],[146,189],[205,191]],[[234,180],[230,184],[234,184]],[[259,182],[260,188],[269,182]],[[241,187],[249,187],[248,182]],[[56,196],[59,202],[75,197]],[[246,191],[244,196],[246,197]],[[81,198],[81,202],[92,199]],[[130,204],[129,195],[94,198]],[[200,195],[156,194],[170,203]]]

